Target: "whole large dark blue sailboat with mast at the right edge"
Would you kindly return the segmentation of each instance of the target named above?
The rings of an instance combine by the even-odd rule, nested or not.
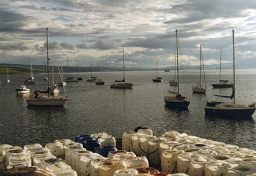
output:
[[[233,39],[233,91],[231,96],[220,96],[223,98],[233,99],[233,102],[218,102],[218,101],[207,101],[205,106],[205,115],[216,115],[221,117],[232,117],[233,119],[237,117],[252,117],[256,110],[255,103],[243,103],[236,102],[236,64],[235,64],[235,41],[234,41],[234,29],[232,30]]]

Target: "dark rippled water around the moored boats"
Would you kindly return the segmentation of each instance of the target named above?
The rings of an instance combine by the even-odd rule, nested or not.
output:
[[[155,71],[125,72],[125,80],[134,82],[133,89],[110,89],[113,80],[122,79],[122,72],[93,73],[105,85],[86,82],[90,73],[79,73],[83,81],[68,83],[68,101],[63,107],[33,107],[26,104],[26,96],[17,96],[15,89],[29,75],[10,75],[4,82],[1,75],[0,91],[0,144],[46,144],[58,138],[74,139],[76,135],[106,131],[116,138],[137,126],[144,126],[160,136],[164,131],[179,131],[188,135],[256,149],[256,115],[252,119],[223,119],[205,117],[205,102],[214,94],[230,95],[232,89],[212,89],[216,82],[215,71],[207,71],[207,93],[193,94],[191,87],[198,82],[198,71],[182,71],[180,92],[189,96],[188,110],[170,110],[164,96],[172,89],[168,80],[172,71],[158,71],[163,83],[153,83]],[[237,101],[256,101],[256,71],[238,71],[236,75]],[[243,73],[243,74],[242,74]],[[46,89],[45,75],[35,75],[36,84],[28,85],[31,91]],[[56,80],[60,80],[56,75]],[[74,74],[76,77],[76,74]],[[225,77],[225,75],[223,76]],[[63,94],[63,89],[61,94]]]

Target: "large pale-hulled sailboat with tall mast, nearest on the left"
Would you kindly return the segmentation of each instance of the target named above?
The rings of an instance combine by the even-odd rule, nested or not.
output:
[[[47,47],[47,82],[48,89],[47,91],[35,91],[35,96],[31,96],[27,99],[28,105],[33,106],[63,106],[67,101],[67,96],[57,97],[50,95],[50,86],[49,86],[49,52],[48,52],[48,28],[46,28],[46,47]],[[65,89],[64,89],[65,90]],[[65,91],[64,91],[65,92]],[[45,96],[44,94],[47,94]]]

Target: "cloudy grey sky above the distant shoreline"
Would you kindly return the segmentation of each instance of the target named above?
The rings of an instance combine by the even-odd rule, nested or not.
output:
[[[173,66],[232,62],[256,66],[255,0],[1,0],[0,63]]]

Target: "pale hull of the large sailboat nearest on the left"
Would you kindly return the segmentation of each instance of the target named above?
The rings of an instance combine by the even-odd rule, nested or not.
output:
[[[27,99],[30,106],[64,106],[67,98],[31,98]]]

